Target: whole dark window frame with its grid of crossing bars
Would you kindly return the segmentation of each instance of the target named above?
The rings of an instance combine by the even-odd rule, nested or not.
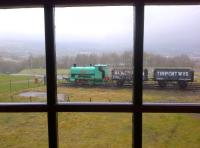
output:
[[[155,4],[167,4],[168,1],[145,1]],[[195,1],[191,1],[191,3]],[[185,1],[177,1],[182,4]],[[0,2],[2,7],[42,6],[45,20],[45,48],[47,73],[47,103],[1,103],[0,112],[44,112],[48,120],[48,141],[50,148],[58,147],[58,112],[122,112],[133,114],[133,144],[132,147],[142,147],[142,116],[143,113],[200,113],[200,104],[192,103],[143,103],[142,100],[142,71],[143,71],[143,33],[144,33],[144,2],[134,1],[134,96],[133,103],[57,103],[56,89],[56,55],[54,33],[54,6],[57,5],[132,5],[132,1],[6,1]],[[173,4],[173,3],[171,3]],[[145,122],[145,120],[144,120]],[[80,123],[81,126],[81,123]]]

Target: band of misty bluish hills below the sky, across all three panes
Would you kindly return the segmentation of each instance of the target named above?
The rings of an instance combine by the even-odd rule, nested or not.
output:
[[[100,42],[82,42],[82,41],[59,41],[56,45],[57,55],[76,55],[81,52],[88,53],[108,53],[116,52],[121,53],[125,50],[131,50],[131,43],[121,44],[121,43],[100,43]],[[177,56],[181,54],[189,55],[193,57],[194,55],[200,56],[200,49],[195,46],[190,47],[177,47],[168,48],[160,47],[159,43],[157,45],[145,44],[144,50],[148,53],[160,54],[162,56]],[[200,47],[200,46],[199,46]],[[0,40],[0,55],[2,57],[11,58],[25,58],[29,55],[39,56],[45,55],[45,46],[43,41],[39,40]]]

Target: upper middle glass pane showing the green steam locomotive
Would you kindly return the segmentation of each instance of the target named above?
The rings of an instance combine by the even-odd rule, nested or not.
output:
[[[59,7],[55,24],[58,101],[131,101],[133,7]]]

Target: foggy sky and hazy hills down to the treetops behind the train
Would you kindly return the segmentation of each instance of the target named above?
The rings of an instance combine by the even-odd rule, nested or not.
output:
[[[200,6],[146,6],[144,57],[146,59],[153,57],[157,60],[146,60],[144,63],[149,66],[148,63],[153,62],[156,66],[159,61],[164,59],[167,63],[175,60],[174,57],[187,59],[188,63],[191,61],[198,63],[200,61],[199,18]],[[22,62],[26,67],[30,67],[30,64],[44,67],[43,9],[1,9],[0,19],[1,68],[8,67],[5,66],[6,62],[11,62],[11,65]],[[67,61],[70,65],[72,63],[69,61],[74,62],[74,59],[89,56],[93,56],[94,64],[107,62],[106,56],[115,57],[108,61],[109,64],[114,64],[120,58],[127,59],[127,55],[128,58],[132,58],[134,8],[131,6],[56,8],[55,31],[58,63],[60,59],[60,63],[65,62],[61,67],[66,67]],[[94,62],[95,58],[99,59]],[[127,59],[127,62],[131,63],[130,59]],[[79,62],[82,63],[80,60]],[[90,62],[92,60],[86,64]],[[191,65],[193,66],[191,63],[186,64],[186,66]]]

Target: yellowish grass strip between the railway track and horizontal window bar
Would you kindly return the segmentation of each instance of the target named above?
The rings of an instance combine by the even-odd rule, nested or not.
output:
[[[102,89],[102,88],[67,88],[61,87],[59,93],[64,93],[70,101],[93,102],[130,102],[132,100],[131,89]],[[199,91],[182,90],[144,90],[144,102],[190,102],[200,103]]]

